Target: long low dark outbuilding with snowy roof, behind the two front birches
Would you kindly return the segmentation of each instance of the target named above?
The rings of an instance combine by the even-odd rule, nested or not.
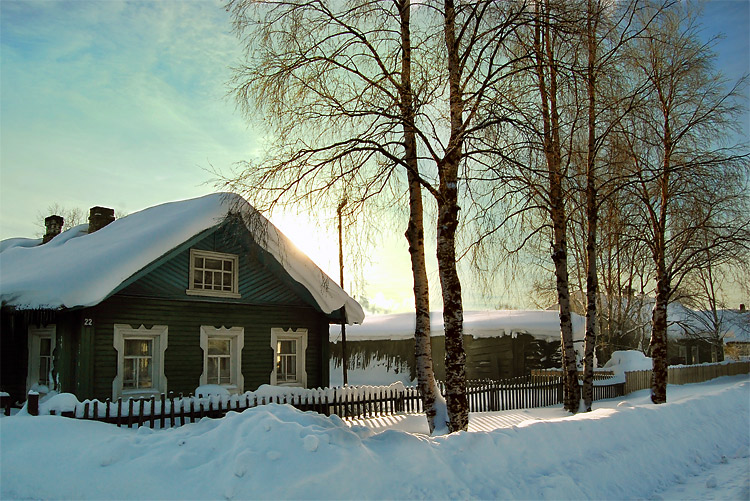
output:
[[[573,316],[576,351],[583,354],[585,319]],[[411,383],[416,379],[414,313],[370,315],[347,327],[348,379],[352,384]],[[430,314],[436,377],[445,375],[442,312]],[[331,327],[331,382],[342,376],[341,332]],[[464,312],[466,375],[469,379],[505,379],[534,369],[560,367],[560,316],[557,311],[486,310]],[[580,356],[579,356],[580,358]]]

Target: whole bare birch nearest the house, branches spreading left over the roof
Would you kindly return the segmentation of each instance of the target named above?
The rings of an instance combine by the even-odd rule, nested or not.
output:
[[[246,49],[235,95],[249,116],[260,112],[272,134],[266,157],[243,165],[229,179],[233,186],[261,209],[325,203],[344,192],[353,217],[375,197],[398,193],[396,169],[405,170],[418,382],[430,431],[444,429],[435,421],[446,412],[432,370],[415,132],[416,101],[433,87],[420,74],[421,94],[414,91],[410,2],[236,0],[228,8]],[[421,33],[417,44],[425,43]]]

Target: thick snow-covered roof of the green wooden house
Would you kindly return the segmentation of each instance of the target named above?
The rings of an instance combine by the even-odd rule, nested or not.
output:
[[[310,292],[323,312],[344,307],[348,322],[364,320],[359,303],[247,201],[229,193],[150,207],[91,234],[87,225],[76,226],[44,245],[32,239],[5,240],[0,243],[0,300],[19,309],[96,305],[145,266],[220,224],[230,212],[245,216],[253,234],[263,233],[257,243]]]

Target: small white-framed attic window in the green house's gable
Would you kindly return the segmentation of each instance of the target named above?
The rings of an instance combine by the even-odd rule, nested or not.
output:
[[[191,296],[239,298],[236,254],[190,249]]]

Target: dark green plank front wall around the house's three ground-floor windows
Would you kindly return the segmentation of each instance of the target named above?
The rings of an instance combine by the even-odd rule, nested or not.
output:
[[[115,324],[128,324],[133,328],[168,326],[164,372],[168,391],[175,393],[192,393],[199,386],[203,372],[201,325],[244,328],[242,374],[246,391],[270,382],[274,368],[271,329],[276,327],[307,329],[307,386],[328,383],[327,346],[322,342],[328,339],[328,323],[310,307],[245,306],[114,296],[85,310],[85,315],[93,324],[92,344],[90,349],[82,345],[80,352],[92,353],[92,384],[90,387],[81,386],[79,399],[112,396],[112,382],[117,375],[117,352],[113,346]]]

